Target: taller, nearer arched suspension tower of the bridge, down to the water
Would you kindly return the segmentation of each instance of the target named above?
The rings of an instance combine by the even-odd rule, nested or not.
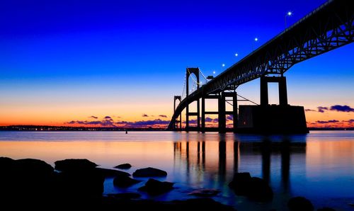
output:
[[[186,88],[186,95],[185,97],[188,98],[189,96],[189,76],[191,74],[194,74],[195,77],[197,78],[197,90],[199,89],[199,84],[200,84],[200,80],[199,80],[199,68],[187,68],[185,69],[185,88]],[[189,117],[190,116],[197,116],[197,130],[199,131],[200,130],[200,101],[199,101],[199,98],[196,100],[197,101],[197,112],[189,112],[189,103],[187,103],[187,106],[185,107],[185,131],[189,131],[190,130],[190,127],[189,127]],[[190,103],[193,103],[190,102]]]

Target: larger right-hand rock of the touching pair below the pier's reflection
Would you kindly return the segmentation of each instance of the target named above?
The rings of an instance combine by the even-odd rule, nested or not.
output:
[[[249,190],[246,196],[251,200],[266,202],[273,199],[273,190],[263,179],[252,177],[249,182]]]

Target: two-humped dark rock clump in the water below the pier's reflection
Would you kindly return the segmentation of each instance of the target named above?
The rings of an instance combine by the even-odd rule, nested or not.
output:
[[[273,190],[262,178],[251,177],[248,172],[236,173],[229,187],[236,195],[246,195],[251,200],[266,202],[273,199]]]

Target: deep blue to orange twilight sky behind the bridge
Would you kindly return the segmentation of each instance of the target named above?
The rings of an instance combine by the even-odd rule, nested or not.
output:
[[[0,125],[164,127],[186,67],[216,76],[324,2],[1,2]],[[354,126],[353,50],[286,72],[309,127]],[[259,103],[259,79],[237,91]]]

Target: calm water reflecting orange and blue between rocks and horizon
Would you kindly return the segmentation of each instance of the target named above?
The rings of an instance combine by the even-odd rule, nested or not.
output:
[[[354,132],[321,131],[309,135],[270,136],[197,132],[0,132],[0,156],[54,162],[86,158],[104,168],[130,163],[132,169],[152,166],[168,172],[161,181],[175,189],[156,200],[193,198],[198,188],[221,190],[215,200],[237,210],[287,210],[287,200],[304,196],[315,208],[354,210]],[[235,172],[248,171],[269,181],[271,203],[254,203],[237,196],[227,184]],[[115,188],[106,179],[105,192]],[[142,198],[151,198],[142,193]]]

